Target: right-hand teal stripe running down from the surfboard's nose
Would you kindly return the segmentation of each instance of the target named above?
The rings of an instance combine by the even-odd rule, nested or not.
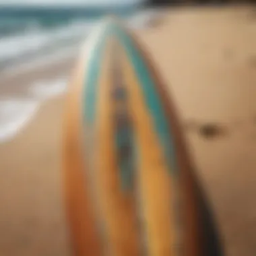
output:
[[[150,109],[150,113],[154,119],[154,125],[156,127],[156,131],[158,133],[158,137],[160,138],[160,142],[164,147],[164,152],[167,161],[173,170],[177,169],[176,160],[175,160],[175,152],[174,152],[174,141],[170,136],[170,129],[168,126],[168,122],[166,119],[166,115],[164,113],[164,108],[160,101],[160,96],[156,90],[156,85],[150,75],[150,71],[148,67],[146,67],[145,62],[141,58],[141,53],[137,51],[134,46],[129,35],[126,34],[121,28],[115,26],[115,32],[123,43],[125,47],[125,51],[127,51],[127,56],[129,60],[133,64],[133,68],[137,78],[139,79],[139,83],[141,84],[141,89],[143,90],[143,96],[145,97],[146,104]]]

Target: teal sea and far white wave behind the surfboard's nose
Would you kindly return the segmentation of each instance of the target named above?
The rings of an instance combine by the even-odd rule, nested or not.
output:
[[[13,65],[77,46],[104,15],[114,13],[131,26],[145,26],[152,10],[140,6],[1,7],[0,76]]]

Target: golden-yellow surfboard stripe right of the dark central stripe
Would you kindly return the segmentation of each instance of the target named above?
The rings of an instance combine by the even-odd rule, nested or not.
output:
[[[140,85],[126,55],[123,55],[125,82],[129,90],[131,119],[137,143],[137,184],[142,216],[146,221],[148,253],[151,256],[174,255],[172,185],[163,149],[156,136]]]

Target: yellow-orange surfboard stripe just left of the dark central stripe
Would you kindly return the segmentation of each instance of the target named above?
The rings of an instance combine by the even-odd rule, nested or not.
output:
[[[110,47],[110,43],[108,46]],[[106,49],[106,53],[110,53]],[[115,137],[113,107],[110,102],[110,55],[104,59],[100,75],[99,98],[96,101],[96,189],[102,219],[106,228],[107,253],[113,256],[139,255],[135,203],[132,193],[121,191]]]

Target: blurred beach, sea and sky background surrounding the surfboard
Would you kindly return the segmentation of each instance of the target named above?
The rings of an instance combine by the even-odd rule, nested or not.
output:
[[[238,0],[0,0],[0,255],[65,256],[64,96],[108,13],[178,106],[228,256],[256,255],[256,6]]]

